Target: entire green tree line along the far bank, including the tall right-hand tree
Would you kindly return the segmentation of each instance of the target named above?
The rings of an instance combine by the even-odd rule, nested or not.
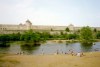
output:
[[[50,34],[49,32],[34,32],[34,30],[28,30],[22,34],[1,34],[0,41],[45,41],[52,39],[81,39],[90,41],[91,39],[100,39],[100,31],[92,31],[90,27],[83,27],[79,32],[70,33],[70,30],[66,28],[66,32],[62,31],[60,34]]]

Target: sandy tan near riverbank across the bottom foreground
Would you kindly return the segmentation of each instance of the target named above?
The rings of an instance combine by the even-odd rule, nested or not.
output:
[[[0,67],[100,67],[100,52],[72,55],[5,55],[0,54]]]

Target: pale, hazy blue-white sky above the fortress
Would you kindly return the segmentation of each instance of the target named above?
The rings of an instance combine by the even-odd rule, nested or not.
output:
[[[100,27],[100,0],[0,0],[0,24]]]

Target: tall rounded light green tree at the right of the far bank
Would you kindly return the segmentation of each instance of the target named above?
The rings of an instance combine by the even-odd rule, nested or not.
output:
[[[80,30],[80,39],[82,40],[82,42],[86,43],[91,42],[93,40],[93,33],[89,26],[83,27]]]

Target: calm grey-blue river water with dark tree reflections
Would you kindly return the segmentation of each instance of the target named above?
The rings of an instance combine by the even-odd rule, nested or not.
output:
[[[23,47],[21,44],[12,43],[10,47],[0,47],[0,53],[19,53],[24,52],[24,54],[54,54],[59,52],[60,54],[68,53],[69,50],[74,52],[100,52],[100,42],[95,42],[95,45],[84,46],[79,42],[69,43],[66,42],[56,43],[52,41],[47,41],[38,47]]]

